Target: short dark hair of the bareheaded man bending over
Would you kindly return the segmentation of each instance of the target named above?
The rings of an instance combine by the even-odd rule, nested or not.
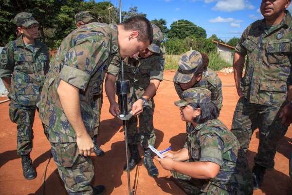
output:
[[[122,25],[126,31],[137,31],[139,33],[138,41],[147,42],[149,40],[150,44],[152,43],[153,28],[150,21],[145,17],[135,15],[118,25]]]

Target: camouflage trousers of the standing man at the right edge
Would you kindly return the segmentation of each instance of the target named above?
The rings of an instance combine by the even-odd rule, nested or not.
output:
[[[255,163],[266,167],[274,167],[274,156],[279,140],[285,136],[288,127],[279,118],[282,107],[264,106],[250,103],[246,98],[239,98],[234,111],[231,132],[237,137],[242,149],[249,148],[251,137],[259,129],[259,144]]]

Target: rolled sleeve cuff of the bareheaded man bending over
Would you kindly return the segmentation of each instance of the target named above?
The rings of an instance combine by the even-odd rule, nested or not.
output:
[[[60,78],[74,87],[85,91],[90,75],[73,67],[64,66]]]

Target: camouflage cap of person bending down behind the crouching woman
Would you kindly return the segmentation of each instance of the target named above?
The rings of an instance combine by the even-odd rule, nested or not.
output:
[[[174,79],[179,83],[188,83],[193,78],[195,72],[203,65],[200,52],[191,50],[183,54],[179,60],[179,69],[174,75]]]

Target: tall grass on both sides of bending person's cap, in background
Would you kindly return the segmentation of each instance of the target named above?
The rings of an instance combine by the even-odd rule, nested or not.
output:
[[[225,61],[224,59],[221,59],[218,54],[215,53],[209,53],[209,66],[208,68],[219,71],[227,67],[231,67],[232,65]],[[164,70],[173,70],[178,69],[178,62],[181,58],[181,55],[166,55],[165,56],[165,66]]]

